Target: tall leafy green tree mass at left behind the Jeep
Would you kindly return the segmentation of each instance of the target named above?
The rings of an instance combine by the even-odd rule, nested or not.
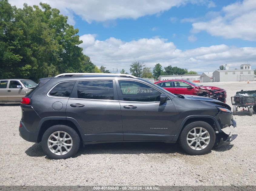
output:
[[[78,45],[78,29],[48,4],[11,6],[0,0],[0,78],[38,78],[66,72],[95,72]]]

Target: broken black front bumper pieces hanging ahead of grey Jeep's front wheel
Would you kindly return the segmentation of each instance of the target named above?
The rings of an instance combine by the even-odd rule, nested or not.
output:
[[[236,121],[234,119],[231,119],[231,125],[236,127]],[[230,134],[229,134],[230,135]],[[216,133],[216,141],[215,141],[215,147],[221,147],[224,145],[230,144],[231,141],[233,141],[237,135],[231,135],[222,132]]]

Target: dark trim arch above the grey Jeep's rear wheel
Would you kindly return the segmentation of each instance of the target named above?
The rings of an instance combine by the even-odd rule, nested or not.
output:
[[[81,128],[81,126],[75,119],[70,118],[70,117],[45,117],[39,122],[38,127],[37,127],[37,132],[38,132],[37,142],[41,142],[44,132],[49,127],[54,126],[54,125],[69,126],[78,133],[80,139],[83,142],[88,141],[87,136],[83,132],[83,129]]]

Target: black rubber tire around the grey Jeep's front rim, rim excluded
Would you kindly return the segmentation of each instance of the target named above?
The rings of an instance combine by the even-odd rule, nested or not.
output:
[[[205,148],[203,148],[201,150],[194,150],[193,148],[191,148],[188,145],[188,142],[187,142],[187,135],[188,135],[188,133],[192,129],[197,128],[197,127],[199,127],[199,128],[202,127],[204,129],[206,129],[206,131],[208,131],[209,136],[210,136],[210,141],[209,141],[208,145],[205,146]],[[208,153],[212,149],[212,147],[214,146],[214,143],[215,143],[215,138],[216,138],[216,136],[215,136],[214,129],[212,128],[211,125],[209,125],[209,123],[206,123],[204,121],[196,121],[196,122],[189,123],[188,125],[186,125],[184,127],[184,129],[182,130],[182,132],[181,132],[181,134],[179,136],[179,143],[180,143],[181,147],[183,148],[183,150],[185,152],[187,152],[188,154],[191,154],[191,155],[201,155],[201,154]],[[199,142],[201,144],[200,140],[199,140]],[[204,143],[202,143],[202,144],[204,144]]]

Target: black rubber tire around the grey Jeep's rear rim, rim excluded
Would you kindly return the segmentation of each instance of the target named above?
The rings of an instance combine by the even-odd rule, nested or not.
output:
[[[68,135],[70,135],[71,140],[72,140],[71,149],[66,154],[63,154],[63,155],[54,154],[48,148],[48,138],[52,135],[52,133],[57,132],[57,131],[62,131],[62,132],[68,133]],[[61,135],[61,136],[64,136],[64,135]],[[70,143],[70,142],[66,142],[66,143]],[[57,144],[61,144],[61,143],[57,143]],[[51,126],[49,129],[47,129],[45,131],[44,135],[42,136],[41,145],[42,145],[42,148],[43,148],[45,154],[48,155],[49,158],[51,158],[51,159],[66,159],[66,158],[73,157],[77,153],[77,151],[80,147],[80,138],[79,138],[79,135],[77,134],[77,132],[74,129],[72,129],[71,127],[65,126],[65,125],[55,125],[55,126]],[[55,148],[58,148],[58,145],[56,145],[56,146],[55,146]],[[58,150],[58,151],[60,152],[60,150]],[[66,151],[65,148],[64,148],[64,151]]]

